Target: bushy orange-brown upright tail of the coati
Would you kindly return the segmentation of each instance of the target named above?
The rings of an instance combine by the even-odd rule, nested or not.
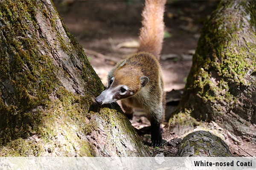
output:
[[[138,51],[148,51],[158,60],[162,50],[164,23],[163,13],[166,0],[145,0],[140,28]]]

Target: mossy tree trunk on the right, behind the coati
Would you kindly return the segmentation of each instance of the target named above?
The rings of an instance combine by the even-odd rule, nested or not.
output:
[[[256,142],[256,1],[221,1],[205,23],[170,124],[178,117],[191,126],[212,120]]]

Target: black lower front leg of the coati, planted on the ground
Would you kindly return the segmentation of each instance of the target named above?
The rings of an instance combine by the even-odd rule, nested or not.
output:
[[[162,142],[162,135],[160,131],[160,122],[152,118],[151,121],[151,142],[152,146],[160,146]]]

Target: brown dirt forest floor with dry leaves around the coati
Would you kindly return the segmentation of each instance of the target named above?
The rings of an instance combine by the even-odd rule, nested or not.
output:
[[[136,52],[137,38],[141,27],[143,1],[114,0],[54,0],[55,6],[65,25],[83,46],[87,57],[107,85],[108,72],[117,61]],[[164,22],[166,25],[160,64],[163,71],[167,95],[166,120],[178,105],[186,77],[192,65],[203,23],[210,17],[218,1],[170,1],[166,4]],[[149,121],[137,111],[131,123],[138,130],[151,156],[175,156],[181,142],[163,122],[161,147],[150,144]],[[233,156],[256,156],[256,147],[240,139],[227,139]]]

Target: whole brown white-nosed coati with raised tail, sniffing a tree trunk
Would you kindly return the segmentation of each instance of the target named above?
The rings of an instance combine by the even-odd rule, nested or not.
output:
[[[119,63],[108,74],[108,88],[96,98],[100,105],[121,99],[132,117],[133,108],[143,109],[151,122],[152,146],[161,144],[160,123],[165,110],[165,93],[160,64],[166,0],[145,0],[138,52]]]

